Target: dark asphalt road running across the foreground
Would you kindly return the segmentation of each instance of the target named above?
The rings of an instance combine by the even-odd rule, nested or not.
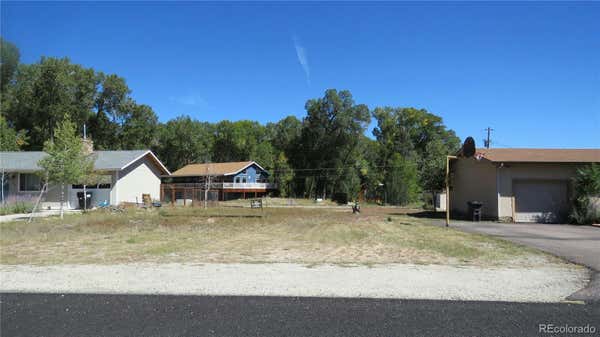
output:
[[[573,335],[540,333],[540,324],[587,325],[596,333],[578,336],[600,336],[598,304],[59,294],[0,298],[3,337]]]

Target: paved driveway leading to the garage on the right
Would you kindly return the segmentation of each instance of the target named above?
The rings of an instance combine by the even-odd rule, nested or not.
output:
[[[465,232],[498,236],[587,266],[593,271],[591,282],[569,299],[600,301],[600,228],[487,221],[452,221],[450,226]]]

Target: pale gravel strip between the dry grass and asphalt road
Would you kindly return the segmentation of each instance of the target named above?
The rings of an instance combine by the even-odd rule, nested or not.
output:
[[[0,266],[0,291],[558,302],[586,269],[444,265],[120,264]]]

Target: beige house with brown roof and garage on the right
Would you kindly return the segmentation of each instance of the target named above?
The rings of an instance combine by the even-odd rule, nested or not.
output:
[[[600,149],[482,149],[450,161],[450,210],[466,215],[483,203],[483,217],[514,222],[562,222],[577,168],[600,163]]]

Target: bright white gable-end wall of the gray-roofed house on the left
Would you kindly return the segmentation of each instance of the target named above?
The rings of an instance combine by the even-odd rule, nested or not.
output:
[[[150,194],[152,199],[160,199],[160,171],[147,158],[138,160],[118,175],[119,179],[113,191],[116,203],[142,202],[142,194]]]

